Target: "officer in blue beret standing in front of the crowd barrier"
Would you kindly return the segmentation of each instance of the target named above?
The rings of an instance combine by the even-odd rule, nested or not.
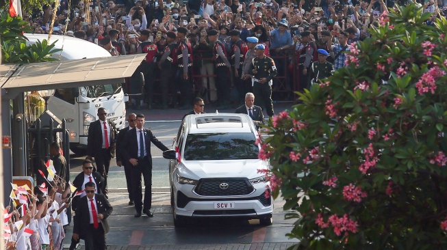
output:
[[[248,72],[253,74],[253,94],[261,100],[262,106],[266,107],[267,115],[272,117],[273,102],[272,102],[272,83],[273,77],[277,75],[277,66],[274,65],[272,58],[264,55],[266,46],[264,44],[257,44],[255,46],[255,55]]]

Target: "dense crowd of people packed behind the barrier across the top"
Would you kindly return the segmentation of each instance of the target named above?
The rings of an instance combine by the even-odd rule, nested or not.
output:
[[[438,8],[442,3],[435,1],[421,3],[433,17],[443,13]],[[53,33],[97,42],[112,55],[147,53],[146,63],[138,71],[145,77],[144,97],[133,100],[136,109],[143,101],[148,108],[187,108],[194,95],[225,108],[231,100],[240,100],[252,91],[253,74],[244,70],[244,64],[253,59],[246,57],[248,38],[257,38],[256,43],[265,46],[265,55],[274,59],[277,77],[273,89],[303,90],[331,70],[344,67],[344,52],[350,51],[350,44],[368,38],[368,27],[377,25],[381,14],[394,3],[61,0]],[[49,31],[53,8],[25,16],[35,25],[34,32]],[[318,57],[326,57],[324,64],[333,66],[313,67]],[[141,84],[136,75],[125,89],[136,94],[141,92]],[[154,89],[161,92],[158,100]],[[261,105],[265,104],[263,99]]]

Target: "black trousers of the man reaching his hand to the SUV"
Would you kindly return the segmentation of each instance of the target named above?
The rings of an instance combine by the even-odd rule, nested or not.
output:
[[[141,212],[144,205],[144,210],[149,210],[152,204],[152,159],[147,156],[138,159],[138,165],[132,167],[132,193],[135,209],[137,212]],[[141,175],[144,178],[144,204],[142,203]]]

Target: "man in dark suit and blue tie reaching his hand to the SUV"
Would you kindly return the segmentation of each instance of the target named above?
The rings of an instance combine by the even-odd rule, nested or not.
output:
[[[120,150],[123,152],[123,159],[129,162],[132,169],[132,193],[135,202],[135,217],[141,216],[142,210],[142,190],[141,174],[144,178],[144,208],[143,212],[148,217],[153,217],[151,209],[152,203],[152,156],[151,142],[162,151],[168,150],[166,146],[157,140],[148,128],[144,128],[144,115],[137,114],[137,124],[135,129],[127,131]]]

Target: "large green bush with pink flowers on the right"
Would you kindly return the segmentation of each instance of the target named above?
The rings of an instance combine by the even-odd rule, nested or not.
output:
[[[447,248],[447,21],[429,16],[384,13],[346,68],[268,122],[259,157],[298,249]]]

